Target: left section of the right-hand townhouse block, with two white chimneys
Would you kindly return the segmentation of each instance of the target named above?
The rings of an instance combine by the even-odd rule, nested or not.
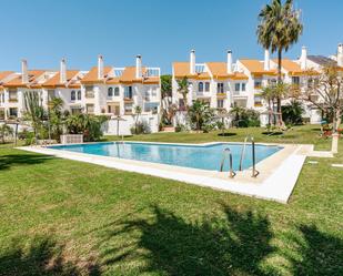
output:
[[[189,81],[188,104],[195,100],[208,102],[211,108],[229,110],[235,99],[245,95],[248,75],[239,71],[232,62],[229,50],[226,62],[195,62],[195,51],[190,53],[189,62],[173,62],[172,96],[180,111],[184,110],[184,100],[178,92],[178,81],[186,78]]]

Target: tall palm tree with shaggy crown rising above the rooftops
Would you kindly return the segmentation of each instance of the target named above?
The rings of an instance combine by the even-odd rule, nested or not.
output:
[[[282,52],[296,43],[302,34],[303,24],[299,19],[300,11],[293,9],[293,0],[273,0],[260,12],[258,25],[258,41],[264,49],[271,49],[272,53],[278,52],[278,83],[282,82]],[[279,120],[281,116],[281,98],[278,98]]]

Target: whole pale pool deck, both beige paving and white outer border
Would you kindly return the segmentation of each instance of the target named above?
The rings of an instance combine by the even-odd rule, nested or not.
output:
[[[149,143],[131,141],[125,142]],[[228,143],[233,144],[233,142]],[[172,144],[190,145],[180,143]],[[202,146],[210,144],[222,144],[222,142],[192,145]],[[152,162],[125,160],[112,156],[100,156],[93,154],[53,150],[42,146],[22,146],[18,149],[34,153],[54,155],[57,157],[68,160],[98,164],[129,172],[181,181],[189,184],[228,191],[241,195],[276,201],[280,203],[287,203],[289,197],[291,196],[292,191],[296,184],[296,180],[299,177],[303,163],[306,156],[311,155],[311,153],[313,152],[313,145],[256,143],[256,145],[258,144],[279,145],[283,146],[283,149],[256,164],[256,170],[260,172],[258,177],[251,177],[252,172],[249,168],[242,172],[236,172],[236,176],[234,178],[230,178],[228,172],[205,171]]]

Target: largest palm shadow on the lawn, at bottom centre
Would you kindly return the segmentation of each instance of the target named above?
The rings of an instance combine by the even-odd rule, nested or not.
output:
[[[271,267],[269,270],[261,268],[264,258],[275,249],[270,245],[273,234],[268,217],[223,206],[225,217],[190,223],[159,206],[153,206],[152,211],[152,222],[151,218],[127,221],[121,231],[107,231],[102,243],[128,235],[128,232],[140,235],[137,246],[130,243],[128,248],[109,249],[103,255],[105,264],[144,258],[148,265],[142,272],[162,275],[273,273]]]

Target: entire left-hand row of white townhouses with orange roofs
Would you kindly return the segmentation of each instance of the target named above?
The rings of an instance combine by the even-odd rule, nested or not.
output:
[[[43,106],[54,98],[63,100],[63,109],[72,114],[84,112],[107,115],[105,134],[130,134],[135,121],[134,108],[141,106],[140,121],[151,132],[159,130],[161,102],[160,69],[142,65],[137,57],[135,67],[104,67],[99,55],[98,65],[90,71],[67,70],[65,60],[59,71],[28,70],[22,61],[22,72],[0,72],[0,120],[21,117],[24,111],[23,93],[39,93]]]

